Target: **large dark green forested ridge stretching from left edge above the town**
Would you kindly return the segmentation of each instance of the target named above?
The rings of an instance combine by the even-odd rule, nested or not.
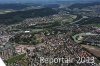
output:
[[[14,24],[23,21],[26,18],[43,17],[58,13],[51,8],[32,9],[26,11],[11,12],[0,14],[0,24]]]

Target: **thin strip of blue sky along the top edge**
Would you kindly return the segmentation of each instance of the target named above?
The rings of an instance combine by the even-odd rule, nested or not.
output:
[[[0,0],[0,3],[27,3],[27,2],[55,2],[55,1],[100,1],[100,0]]]

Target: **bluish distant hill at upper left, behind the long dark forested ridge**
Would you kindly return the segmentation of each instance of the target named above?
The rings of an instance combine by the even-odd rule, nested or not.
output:
[[[32,4],[32,3],[7,3],[7,4],[0,4],[0,10],[7,10],[7,9],[13,9],[13,10],[22,10],[25,9],[27,7],[31,7],[31,6],[40,6],[39,4]]]

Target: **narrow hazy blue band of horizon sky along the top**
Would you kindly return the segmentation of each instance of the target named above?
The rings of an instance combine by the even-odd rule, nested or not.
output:
[[[100,0],[0,0],[0,3],[53,3],[58,1],[73,1],[73,2],[96,2]]]

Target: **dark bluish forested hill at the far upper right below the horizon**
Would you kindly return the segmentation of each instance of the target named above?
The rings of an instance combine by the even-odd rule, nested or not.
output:
[[[69,8],[70,9],[74,9],[74,8],[82,9],[82,8],[85,8],[85,7],[88,7],[88,6],[95,6],[95,5],[100,5],[100,2],[93,2],[93,3],[75,3],[75,4],[72,4],[71,6],[69,6]]]

